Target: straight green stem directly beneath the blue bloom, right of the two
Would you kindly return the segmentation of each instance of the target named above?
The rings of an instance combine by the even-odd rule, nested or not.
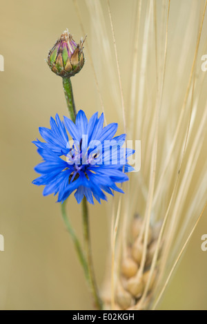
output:
[[[102,309],[102,302],[97,289],[95,272],[92,265],[92,251],[90,245],[90,229],[89,229],[88,206],[87,206],[86,197],[83,197],[83,201],[82,201],[82,215],[83,215],[83,235],[85,240],[86,256],[88,261],[88,275],[89,275],[90,289],[95,299],[96,307],[98,309]]]

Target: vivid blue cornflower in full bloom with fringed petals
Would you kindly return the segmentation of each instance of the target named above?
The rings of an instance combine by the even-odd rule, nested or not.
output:
[[[92,196],[98,202],[107,200],[103,191],[112,196],[112,190],[124,193],[116,183],[128,180],[124,172],[133,168],[127,157],[134,151],[122,147],[125,134],[114,137],[118,124],[103,127],[103,114],[98,118],[95,113],[88,121],[83,111],[79,111],[75,123],[68,117],[61,122],[59,115],[55,119],[50,118],[51,129],[39,128],[45,142],[33,142],[43,162],[34,168],[41,176],[32,183],[46,186],[43,196],[58,193],[57,201],[63,202],[76,190],[78,203],[86,196],[93,204]],[[72,137],[70,141],[66,128]]]

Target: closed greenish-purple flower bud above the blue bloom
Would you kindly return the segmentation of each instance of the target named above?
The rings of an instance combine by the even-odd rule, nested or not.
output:
[[[60,77],[73,77],[84,64],[83,43],[76,44],[72,35],[65,30],[48,54],[48,66]]]

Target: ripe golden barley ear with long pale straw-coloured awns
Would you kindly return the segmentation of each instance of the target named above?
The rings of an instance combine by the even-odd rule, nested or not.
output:
[[[207,1],[130,1],[130,46],[117,37],[124,32],[118,2],[121,10],[122,1],[85,1],[101,109],[106,117],[116,111],[128,139],[141,140],[141,171],[108,211],[111,271],[103,298],[109,309],[156,309],[206,207]],[[103,93],[111,95],[107,108]]]

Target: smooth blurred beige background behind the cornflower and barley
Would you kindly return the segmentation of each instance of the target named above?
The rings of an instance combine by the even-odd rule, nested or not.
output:
[[[188,1],[182,1],[188,6]],[[78,2],[88,41],[92,42],[90,17],[84,1]],[[111,1],[115,26],[120,26],[120,30],[115,30],[120,32],[118,38],[121,33],[128,33],[127,24],[126,28],[121,26],[122,19],[130,21],[132,15],[132,6],[127,3]],[[69,28],[77,41],[83,36],[77,14],[70,0],[0,0],[0,8],[0,54],[5,59],[5,71],[0,72],[0,234],[5,238],[5,251],[0,252],[0,309],[91,309],[59,204],[52,196],[43,198],[42,189],[31,184],[37,176],[33,167],[40,160],[31,143],[37,137],[40,139],[38,127],[49,126],[50,115],[67,114],[61,79],[50,72],[44,59],[64,29]],[[123,65],[125,55],[126,51],[119,51]],[[77,107],[92,115],[98,99],[89,61],[72,84]],[[108,121],[114,116],[109,109]],[[81,234],[80,207],[73,197],[69,204],[70,218]],[[106,203],[90,208],[99,283],[103,280],[108,249],[106,213]],[[207,251],[201,251],[203,234],[207,234],[207,213],[160,309],[207,309]]]

